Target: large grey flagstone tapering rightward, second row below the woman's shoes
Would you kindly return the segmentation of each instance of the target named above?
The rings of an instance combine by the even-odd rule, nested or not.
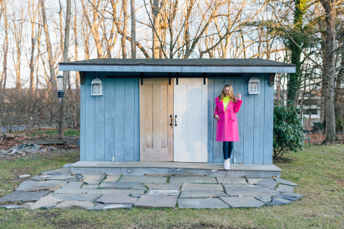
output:
[[[279,194],[278,191],[258,185],[223,185],[229,196],[271,197]]]

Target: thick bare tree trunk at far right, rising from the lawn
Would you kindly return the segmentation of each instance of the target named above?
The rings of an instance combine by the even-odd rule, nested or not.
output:
[[[336,123],[333,104],[334,78],[336,75],[335,49],[336,49],[336,0],[321,0],[325,9],[326,23],[326,49],[324,66],[324,113],[326,119],[324,144],[330,144],[336,140]]]

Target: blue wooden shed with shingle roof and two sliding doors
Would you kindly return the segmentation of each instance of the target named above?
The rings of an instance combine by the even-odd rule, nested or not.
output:
[[[294,73],[295,65],[266,59],[89,59],[60,63],[59,69],[80,73],[80,161],[223,163],[214,99],[230,83],[243,96],[240,141],[230,163],[271,165],[275,74]],[[250,79],[259,81],[259,94],[249,92]]]

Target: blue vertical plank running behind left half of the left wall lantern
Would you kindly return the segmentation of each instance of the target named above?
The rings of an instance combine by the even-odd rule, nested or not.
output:
[[[91,96],[91,81],[95,78],[95,72],[86,73],[85,77],[85,161],[95,161],[95,96]]]

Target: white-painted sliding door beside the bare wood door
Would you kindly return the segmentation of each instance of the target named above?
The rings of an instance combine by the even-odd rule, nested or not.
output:
[[[208,79],[174,79],[174,160],[208,161]]]

